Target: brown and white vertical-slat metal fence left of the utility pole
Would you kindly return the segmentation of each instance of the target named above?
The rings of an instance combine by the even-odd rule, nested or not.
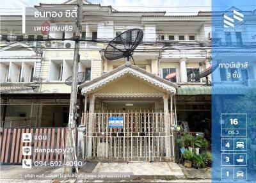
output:
[[[32,141],[22,141],[22,134],[31,133]],[[45,139],[35,139],[46,136]],[[76,141],[77,132],[74,133]],[[1,128],[0,129],[0,162],[1,164],[21,164],[22,159],[49,163],[64,160],[64,154],[54,149],[65,149],[67,128]],[[31,147],[31,155],[22,155],[22,147]],[[35,150],[50,149],[51,152],[35,152]]]

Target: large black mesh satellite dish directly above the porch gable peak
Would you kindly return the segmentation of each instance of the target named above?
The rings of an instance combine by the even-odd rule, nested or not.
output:
[[[140,44],[143,38],[141,29],[129,29],[116,36],[104,51],[104,56],[108,60],[127,58],[130,61],[134,49]]]

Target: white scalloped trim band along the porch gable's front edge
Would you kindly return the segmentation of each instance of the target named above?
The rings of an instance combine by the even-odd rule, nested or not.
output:
[[[166,90],[171,93],[176,93],[176,88],[173,86],[170,86],[169,84],[163,83],[159,81],[158,79],[155,79],[154,77],[150,77],[147,74],[143,74],[139,70],[136,70],[132,67],[124,67],[122,70],[117,70],[113,74],[110,74],[109,76],[103,77],[99,81],[95,81],[92,84],[89,84],[88,86],[82,86],[82,93],[88,93],[92,90],[95,90],[99,88],[100,86],[103,86],[110,81],[113,81],[117,79],[118,77],[124,76],[125,74],[131,74],[132,76],[139,77],[140,79],[143,79],[144,81],[147,81],[148,83],[154,84],[155,86],[158,86],[159,88],[162,88],[163,90]]]

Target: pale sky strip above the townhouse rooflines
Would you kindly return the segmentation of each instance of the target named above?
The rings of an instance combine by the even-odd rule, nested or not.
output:
[[[63,2],[65,0],[8,0],[1,4],[1,8],[13,9],[22,8],[22,6],[34,6],[39,3]],[[193,15],[200,10],[211,10],[211,0],[91,0],[90,2],[111,5],[120,11],[166,11],[168,15]]]

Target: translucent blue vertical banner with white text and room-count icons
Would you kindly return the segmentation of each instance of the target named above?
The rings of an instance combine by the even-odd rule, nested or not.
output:
[[[212,0],[212,182],[256,181],[255,4]]]

